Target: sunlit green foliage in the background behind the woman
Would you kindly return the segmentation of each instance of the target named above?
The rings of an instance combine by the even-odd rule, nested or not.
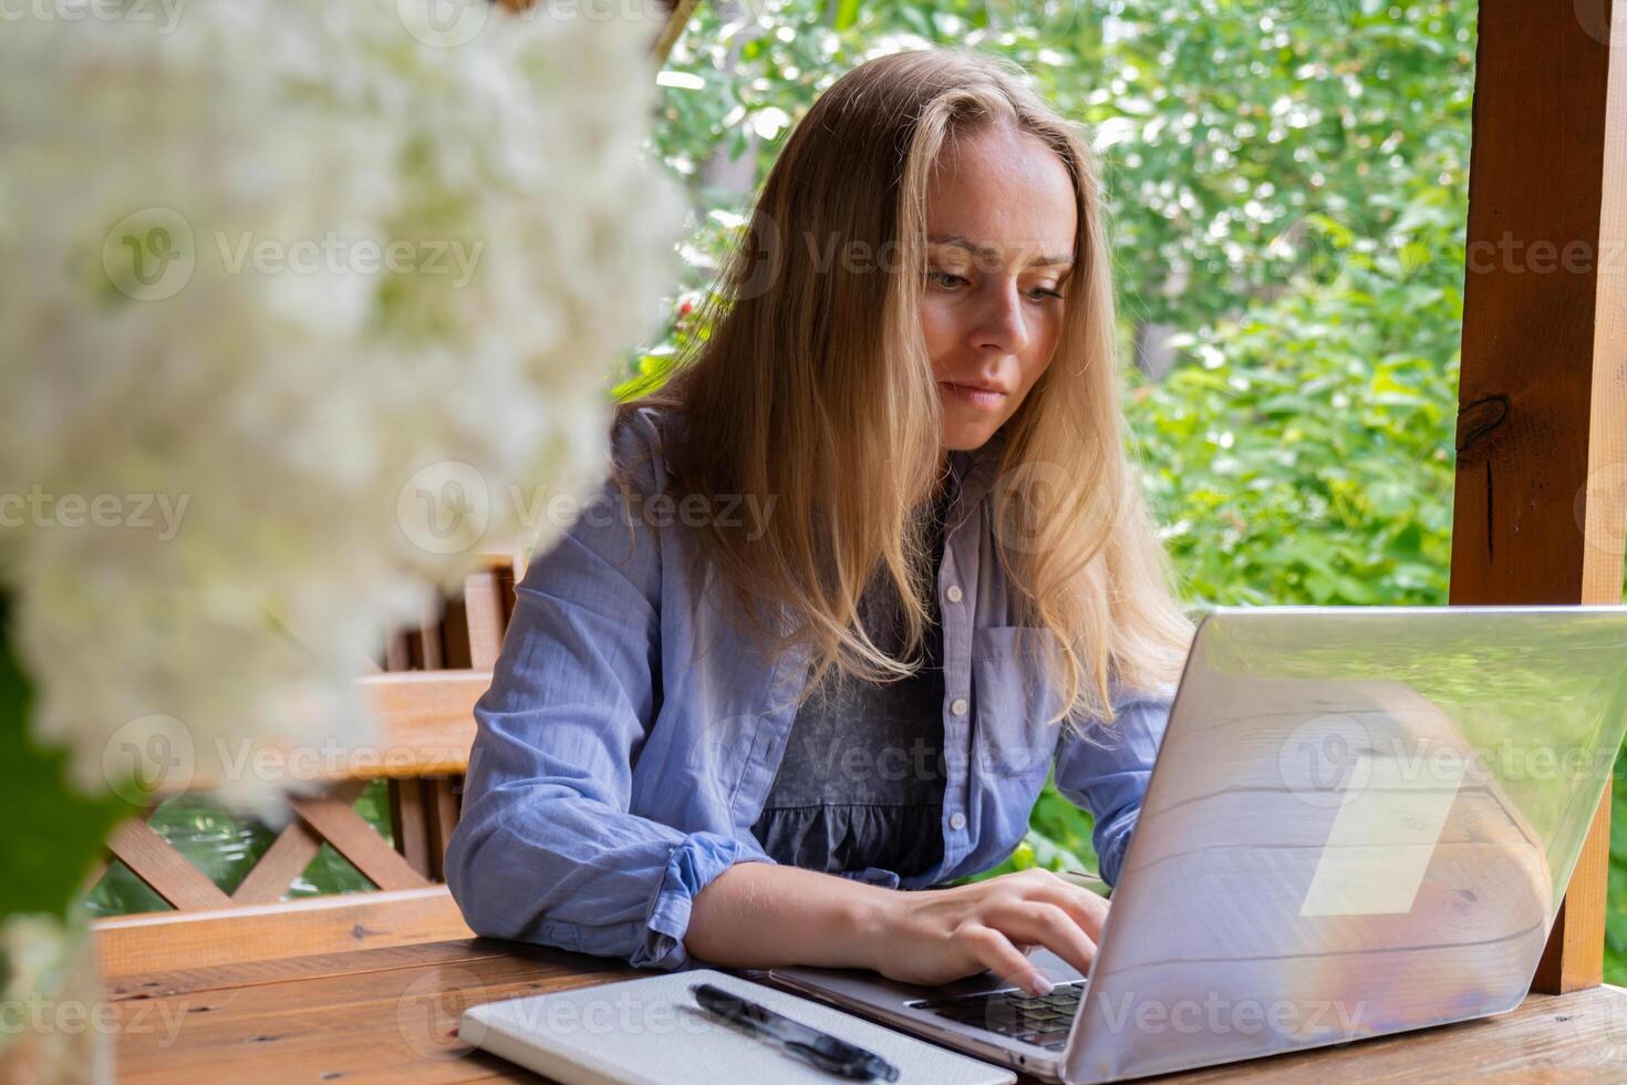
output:
[[[680,176],[747,129],[760,184],[787,120],[880,52],[968,44],[1022,63],[1101,156],[1126,358],[1173,332],[1175,369],[1128,373],[1145,491],[1209,604],[1440,605],[1451,556],[1474,5],[763,0],[704,5],[656,150]],[[739,194],[703,216],[675,306],[706,290]],[[704,333],[693,327],[683,335]],[[659,381],[672,337],[635,363]],[[626,387],[626,386],[623,386]],[[1609,974],[1627,978],[1627,787],[1616,794]],[[999,870],[1093,862],[1053,789]],[[984,875],[988,877],[988,875]]]

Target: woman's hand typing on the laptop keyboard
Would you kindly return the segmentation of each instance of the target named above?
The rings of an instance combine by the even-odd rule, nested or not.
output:
[[[870,968],[913,984],[940,984],[984,968],[1046,994],[1025,955],[1043,945],[1080,973],[1097,955],[1106,900],[1049,870],[1020,870],[949,890],[890,891],[879,901]]]

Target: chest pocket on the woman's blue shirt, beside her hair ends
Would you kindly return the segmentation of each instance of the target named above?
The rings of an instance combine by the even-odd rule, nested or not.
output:
[[[1041,626],[971,630],[973,758],[984,776],[1043,776],[1061,724],[1045,721],[1061,706],[1045,680],[1056,634]]]

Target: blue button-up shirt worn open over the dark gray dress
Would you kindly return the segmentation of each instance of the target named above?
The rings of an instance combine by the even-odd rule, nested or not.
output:
[[[770,659],[744,623],[721,617],[729,605],[716,577],[695,576],[700,516],[742,517],[750,530],[771,509],[665,496],[677,490],[662,447],[680,425],[657,408],[635,412],[613,454],[636,464],[643,499],[628,503],[607,480],[517,586],[491,688],[475,706],[446,854],[447,887],[477,934],[690,966],[695,895],[731,864],[773,862],[750,826],[810,656]],[[1095,815],[1101,877],[1118,877],[1173,688],[1116,696],[1118,719],[1090,721],[1082,737],[1043,726],[1056,699],[1038,652],[1054,634],[1010,625],[989,498],[1002,441],[950,455],[958,491],[937,577],[944,857],[905,878],[875,867],[844,877],[911,890],[999,865],[1022,843],[1053,766],[1062,795]]]

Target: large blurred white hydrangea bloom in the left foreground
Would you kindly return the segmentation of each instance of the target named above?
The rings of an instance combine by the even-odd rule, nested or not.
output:
[[[368,743],[384,630],[555,540],[511,486],[604,477],[610,364],[677,275],[682,197],[641,155],[657,16],[495,8],[446,46],[410,7],[0,39],[0,582],[85,787],[179,735],[273,810],[244,752]]]

